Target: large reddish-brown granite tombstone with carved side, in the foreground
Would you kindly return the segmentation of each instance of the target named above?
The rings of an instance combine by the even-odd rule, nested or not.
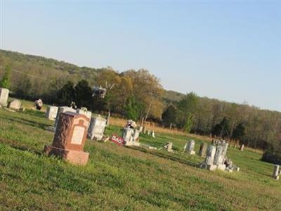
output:
[[[73,164],[86,165],[89,153],[83,151],[89,118],[77,113],[60,113],[52,146],[45,146],[47,155],[57,155]]]

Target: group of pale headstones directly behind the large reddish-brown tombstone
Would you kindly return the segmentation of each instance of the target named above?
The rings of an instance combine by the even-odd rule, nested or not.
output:
[[[103,117],[91,117],[91,111],[88,111],[86,108],[79,108],[74,110],[73,108],[63,106],[63,107],[56,107],[56,106],[49,106],[46,110],[46,117],[49,120],[55,120],[53,131],[55,131],[56,127],[58,127],[58,122],[60,120],[60,114],[70,112],[70,113],[78,113],[81,115],[85,115],[89,118],[90,123],[88,126],[88,137],[89,139],[93,140],[96,139],[98,141],[103,139],[103,134],[105,132],[106,120]]]

